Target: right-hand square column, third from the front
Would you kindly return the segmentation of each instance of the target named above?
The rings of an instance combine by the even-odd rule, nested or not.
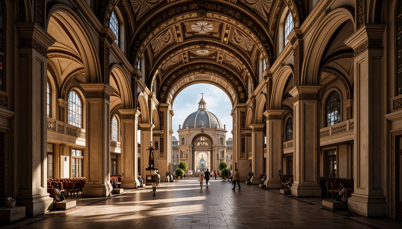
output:
[[[282,168],[282,113],[285,110],[269,109],[267,117],[267,188],[281,188],[278,172]]]

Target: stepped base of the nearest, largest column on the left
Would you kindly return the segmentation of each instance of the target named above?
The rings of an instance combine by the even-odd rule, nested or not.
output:
[[[25,217],[35,217],[53,211],[53,198],[49,193],[34,196],[18,196],[17,205],[25,207]]]

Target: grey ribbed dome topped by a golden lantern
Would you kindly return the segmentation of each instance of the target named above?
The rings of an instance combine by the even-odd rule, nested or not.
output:
[[[222,129],[222,123],[214,113],[207,111],[207,103],[204,98],[201,98],[198,103],[198,110],[187,116],[183,122],[183,129],[187,127]]]

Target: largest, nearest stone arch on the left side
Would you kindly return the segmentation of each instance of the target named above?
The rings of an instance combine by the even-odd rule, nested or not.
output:
[[[78,50],[82,65],[85,69],[86,82],[102,82],[96,45],[94,44],[91,33],[88,31],[87,26],[81,20],[80,16],[69,6],[57,3],[48,6],[46,23],[48,32],[48,25],[51,18],[56,18],[58,23],[61,22],[63,25],[61,25],[61,27],[66,36],[69,40],[74,41],[73,43],[76,45],[75,48]],[[51,47],[49,49],[51,49]]]

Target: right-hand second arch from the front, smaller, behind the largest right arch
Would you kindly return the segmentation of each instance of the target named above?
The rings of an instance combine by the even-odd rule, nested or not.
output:
[[[282,106],[282,97],[283,90],[285,89],[286,82],[293,74],[293,66],[292,65],[284,65],[278,70],[278,73],[275,77],[275,81],[273,82],[273,90],[272,90],[272,98],[269,101],[270,109],[281,109]],[[267,109],[269,109],[267,107]]]

